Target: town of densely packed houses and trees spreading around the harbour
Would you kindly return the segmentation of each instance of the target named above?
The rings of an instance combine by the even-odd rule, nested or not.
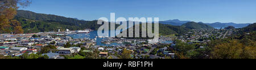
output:
[[[147,39],[114,37],[73,38],[93,30],[40,32],[33,34],[0,34],[0,55],[38,54],[45,59],[175,59],[176,40],[204,48],[212,40],[226,38],[236,29],[192,29],[182,35],[160,36],[158,43]],[[97,42],[97,39],[102,39]],[[98,44],[101,43],[101,44]],[[115,45],[112,45],[115,43]],[[111,44],[111,45],[110,45]],[[104,46],[108,45],[108,46]]]

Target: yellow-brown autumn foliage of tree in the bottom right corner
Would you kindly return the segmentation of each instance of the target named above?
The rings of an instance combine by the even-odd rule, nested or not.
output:
[[[216,45],[212,53],[214,59],[254,59],[255,47],[232,40]]]

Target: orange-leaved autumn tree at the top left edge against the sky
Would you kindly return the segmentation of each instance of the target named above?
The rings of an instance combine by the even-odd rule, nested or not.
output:
[[[23,33],[21,24],[14,20],[14,17],[17,14],[16,9],[19,8],[18,5],[26,7],[30,3],[30,0],[0,0],[0,33]]]

